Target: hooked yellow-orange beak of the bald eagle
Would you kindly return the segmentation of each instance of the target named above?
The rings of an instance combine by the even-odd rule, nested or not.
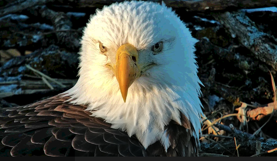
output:
[[[114,72],[124,102],[126,102],[129,87],[140,77],[136,62],[138,62],[138,54],[134,46],[124,44],[118,48]]]

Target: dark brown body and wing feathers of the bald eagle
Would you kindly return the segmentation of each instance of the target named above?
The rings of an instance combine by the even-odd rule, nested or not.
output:
[[[173,121],[165,126],[172,143],[167,152],[159,142],[145,150],[135,136],[89,116],[86,106],[64,102],[69,98],[60,94],[26,106],[1,108],[0,156],[196,155],[192,126],[184,116],[182,126]]]

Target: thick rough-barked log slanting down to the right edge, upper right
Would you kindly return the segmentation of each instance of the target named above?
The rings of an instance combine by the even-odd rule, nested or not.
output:
[[[225,12],[214,14],[214,17],[229,30],[233,38],[238,37],[253,57],[277,70],[277,40],[273,35],[260,32],[243,12]]]

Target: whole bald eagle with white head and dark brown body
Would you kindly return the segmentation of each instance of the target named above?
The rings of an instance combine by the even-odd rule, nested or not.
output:
[[[96,10],[68,91],[0,109],[0,156],[195,156],[199,99],[192,37],[164,3]]]

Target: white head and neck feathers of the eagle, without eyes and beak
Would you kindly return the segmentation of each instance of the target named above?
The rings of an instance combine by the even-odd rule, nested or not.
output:
[[[151,46],[163,42],[163,50],[153,55]],[[107,47],[105,55],[99,42]],[[79,80],[65,93],[72,103],[89,104],[92,116],[101,117],[112,128],[136,135],[142,145],[160,141],[170,146],[164,126],[180,121],[181,111],[192,123],[195,139],[201,128],[201,81],[194,55],[197,42],[180,18],[164,3],[144,1],[114,3],[90,17],[84,28],[80,49]],[[139,59],[154,62],[129,87],[123,102],[118,81],[105,65],[115,63],[123,44],[132,44]]]

